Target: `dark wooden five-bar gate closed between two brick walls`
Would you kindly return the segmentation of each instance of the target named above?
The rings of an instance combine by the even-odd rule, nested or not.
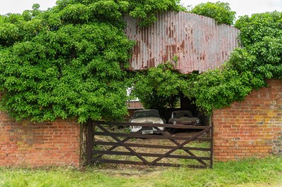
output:
[[[142,127],[130,133],[129,126]],[[161,130],[164,127],[164,130]],[[143,134],[152,129],[156,133]],[[178,129],[171,134],[167,129]],[[87,127],[87,163],[212,167],[213,127],[96,121]]]

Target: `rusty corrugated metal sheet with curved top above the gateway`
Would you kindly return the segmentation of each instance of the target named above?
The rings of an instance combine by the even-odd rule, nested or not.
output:
[[[185,12],[157,15],[151,27],[139,27],[138,20],[125,17],[125,34],[135,40],[131,70],[157,67],[178,56],[177,69],[182,73],[205,72],[219,67],[239,46],[239,30],[214,19]]]

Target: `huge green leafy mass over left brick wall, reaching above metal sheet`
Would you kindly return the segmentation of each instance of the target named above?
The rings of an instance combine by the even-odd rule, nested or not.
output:
[[[16,120],[120,120],[127,113],[133,41],[123,15],[150,25],[174,0],[59,0],[0,16],[1,109]]]

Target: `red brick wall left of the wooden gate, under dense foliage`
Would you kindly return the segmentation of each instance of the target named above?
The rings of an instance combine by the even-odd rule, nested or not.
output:
[[[0,166],[79,166],[80,127],[68,120],[14,122],[0,112]]]

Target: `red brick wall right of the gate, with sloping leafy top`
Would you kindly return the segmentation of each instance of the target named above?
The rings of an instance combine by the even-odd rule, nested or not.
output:
[[[282,155],[282,81],[254,90],[245,101],[214,111],[214,159]]]

